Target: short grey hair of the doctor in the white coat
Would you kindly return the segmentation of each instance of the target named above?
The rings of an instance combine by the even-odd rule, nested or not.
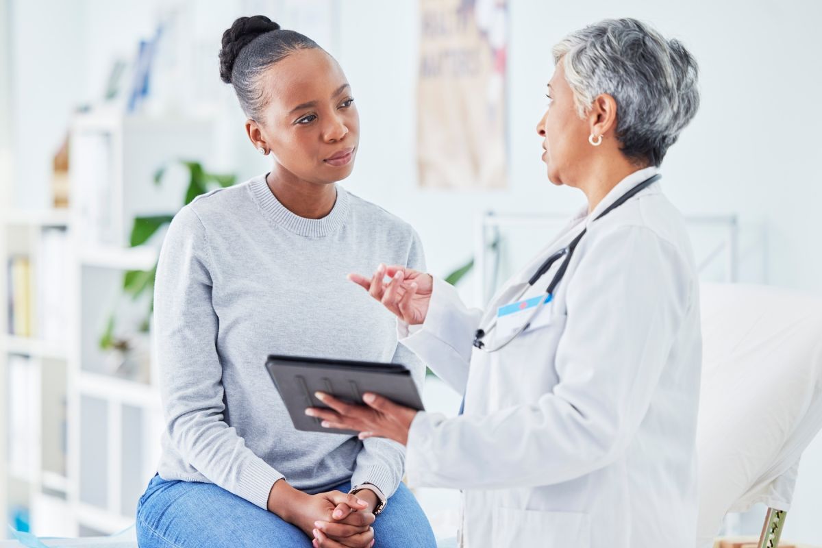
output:
[[[593,99],[617,102],[617,138],[630,159],[658,166],[700,105],[693,56],[676,39],[635,19],[606,19],[553,48],[563,63],[580,117]]]

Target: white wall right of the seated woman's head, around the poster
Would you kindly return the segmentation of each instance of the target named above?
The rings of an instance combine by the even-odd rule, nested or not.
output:
[[[815,21],[820,2],[510,2],[510,191],[442,192],[416,187],[414,94],[416,2],[346,2],[339,61],[363,118],[349,187],[408,219],[429,265],[445,272],[469,255],[479,211],[570,210],[575,191],[544,177],[534,127],[552,74],[550,48],[570,30],[606,16],[635,16],[682,39],[700,62],[702,106],[670,150],[663,173],[688,214],[741,220],[742,279],[764,281],[761,228],[768,228],[767,281],[822,292],[820,152],[812,106],[820,88]],[[618,5],[618,8],[615,7]],[[400,22],[402,21],[402,22]],[[345,32],[348,28],[367,32]],[[447,219],[447,220],[446,220]]]

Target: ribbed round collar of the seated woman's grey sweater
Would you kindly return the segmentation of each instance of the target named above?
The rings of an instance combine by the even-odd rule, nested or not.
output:
[[[289,211],[274,196],[274,193],[268,187],[265,175],[254,177],[248,185],[263,214],[266,214],[272,223],[299,236],[328,236],[343,226],[349,214],[349,193],[339,185],[336,186],[337,200],[334,207],[322,219],[306,219]]]

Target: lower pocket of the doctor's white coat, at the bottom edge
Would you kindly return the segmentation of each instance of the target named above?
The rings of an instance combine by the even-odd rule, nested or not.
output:
[[[495,508],[491,546],[591,546],[587,513]]]

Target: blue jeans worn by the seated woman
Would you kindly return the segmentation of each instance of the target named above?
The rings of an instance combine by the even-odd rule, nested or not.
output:
[[[336,486],[348,492],[350,483]],[[375,548],[436,548],[423,509],[403,483],[374,522]],[[298,527],[213,483],[155,476],[137,505],[141,548],[312,548]]]

